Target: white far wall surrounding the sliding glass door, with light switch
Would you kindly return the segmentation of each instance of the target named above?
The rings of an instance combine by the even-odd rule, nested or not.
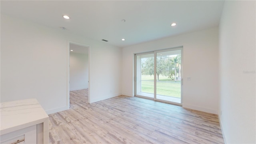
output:
[[[218,112],[218,28],[123,48],[122,93],[134,96],[134,54],[183,46],[183,107]],[[186,77],[191,77],[187,81]]]

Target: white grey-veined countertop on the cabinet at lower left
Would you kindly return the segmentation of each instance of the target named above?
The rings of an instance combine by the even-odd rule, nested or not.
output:
[[[0,134],[40,124],[48,115],[35,98],[2,102],[0,106]]]

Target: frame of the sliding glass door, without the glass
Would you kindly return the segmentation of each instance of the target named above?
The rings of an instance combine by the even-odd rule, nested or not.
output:
[[[182,106],[182,103],[183,103],[183,70],[182,69],[181,69],[181,76],[182,77],[181,77],[181,88],[180,88],[180,103],[171,102],[171,101],[167,101],[167,100],[160,100],[160,99],[156,98],[156,53],[158,53],[158,52],[168,52],[168,51],[172,51],[172,50],[181,50],[181,52],[180,52],[180,54],[181,54],[181,67],[183,69],[184,68],[183,67],[183,46],[178,46],[178,47],[174,47],[174,48],[165,48],[165,49],[160,49],[160,50],[154,50],[154,51],[141,52],[141,53],[134,54],[134,56],[135,56],[135,79],[134,79],[135,94],[134,94],[134,96],[140,97],[140,98],[146,98],[146,99],[150,99],[150,100],[154,100],[154,101],[158,101],[158,102],[164,102],[164,103],[168,103],[168,104],[174,104],[174,105]],[[137,95],[137,56],[138,55],[144,55],[144,54],[154,54],[154,98]]]

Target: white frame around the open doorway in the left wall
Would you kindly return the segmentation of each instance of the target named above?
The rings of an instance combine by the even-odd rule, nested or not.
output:
[[[84,46],[88,48],[88,102],[90,103],[90,63],[91,63],[91,46],[78,42],[67,42],[67,106],[70,108],[70,44]]]

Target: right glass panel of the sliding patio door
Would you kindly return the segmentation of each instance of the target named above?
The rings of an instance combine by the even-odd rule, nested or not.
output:
[[[156,99],[181,103],[181,50],[156,52]]]

